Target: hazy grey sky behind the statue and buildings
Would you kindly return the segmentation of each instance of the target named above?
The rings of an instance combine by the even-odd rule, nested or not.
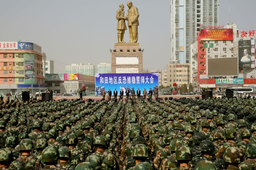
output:
[[[219,25],[235,23],[240,31],[256,30],[255,0],[219,0]],[[120,0],[6,0],[1,1],[0,42],[34,42],[42,46],[47,59],[54,60],[54,72],[64,73],[71,63],[111,62],[109,48],[117,42],[115,18]],[[138,42],[143,68],[166,69],[170,60],[171,0],[133,0],[139,11]],[[230,7],[230,15],[229,15]],[[230,16],[230,17],[229,17]],[[129,31],[124,40],[129,42]]]

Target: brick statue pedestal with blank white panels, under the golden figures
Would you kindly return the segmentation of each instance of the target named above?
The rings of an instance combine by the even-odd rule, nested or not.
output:
[[[112,50],[112,73],[142,73],[142,53],[139,43],[115,43]]]

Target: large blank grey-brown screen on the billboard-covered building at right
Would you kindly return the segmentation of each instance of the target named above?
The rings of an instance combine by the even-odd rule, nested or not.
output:
[[[208,76],[238,75],[238,58],[208,58]]]

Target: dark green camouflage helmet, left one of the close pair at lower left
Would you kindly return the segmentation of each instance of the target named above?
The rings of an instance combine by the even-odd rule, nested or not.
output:
[[[42,152],[43,162],[57,162],[59,159],[59,151],[55,146],[47,146]]]

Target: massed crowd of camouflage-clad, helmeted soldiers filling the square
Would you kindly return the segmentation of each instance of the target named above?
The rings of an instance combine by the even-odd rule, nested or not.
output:
[[[0,103],[0,170],[252,170],[256,98]]]

